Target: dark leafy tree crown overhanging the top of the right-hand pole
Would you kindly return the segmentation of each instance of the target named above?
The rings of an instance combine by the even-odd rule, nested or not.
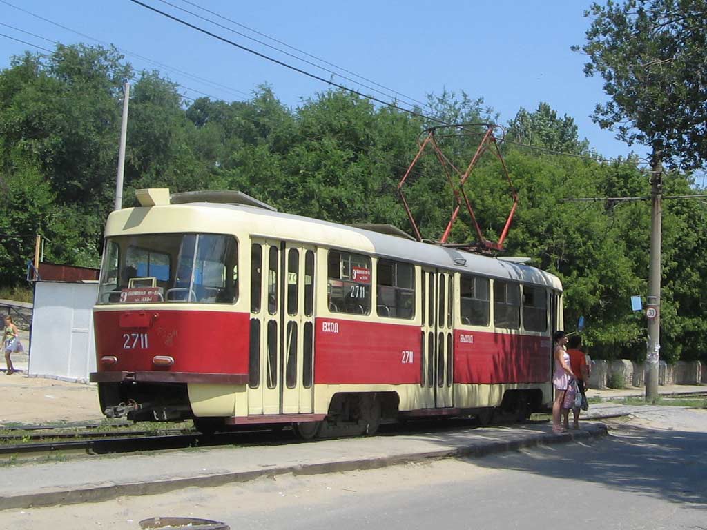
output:
[[[707,1],[592,4],[587,76],[611,98],[592,119],[617,139],[653,150],[653,165],[696,168],[707,160]]]

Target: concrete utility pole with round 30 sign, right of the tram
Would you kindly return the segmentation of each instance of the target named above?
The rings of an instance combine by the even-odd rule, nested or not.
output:
[[[653,172],[650,179],[650,264],[648,266],[648,300],[645,316],[648,318],[648,341],[645,353],[645,400],[658,399],[660,360],[660,247],[662,232],[662,164],[660,152],[653,153]]]

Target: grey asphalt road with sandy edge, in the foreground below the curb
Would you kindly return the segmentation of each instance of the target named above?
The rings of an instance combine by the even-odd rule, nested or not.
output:
[[[138,529],[181,515],[234,530],[707,529],[707,411],[665,407],[609,432],[482,459],[9,510],[0,526]]]

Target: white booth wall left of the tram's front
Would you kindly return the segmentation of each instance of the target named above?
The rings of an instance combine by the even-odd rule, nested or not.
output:
[[[98,282],[35,283],[29,375],[88,381],[95,372]]]

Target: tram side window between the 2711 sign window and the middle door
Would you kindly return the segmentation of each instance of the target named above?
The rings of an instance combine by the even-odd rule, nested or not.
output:
[[[409,263],[378,260],[376,298],[379,317],[411,319],[415,315],[415,268]]]

